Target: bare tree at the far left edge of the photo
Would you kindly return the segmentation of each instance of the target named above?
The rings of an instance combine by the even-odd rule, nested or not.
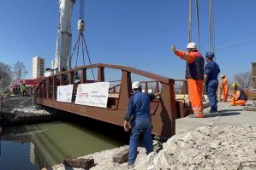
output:
[[[12,81],[12,71],[11,66],[4,64],[3,62],[0,62],[0,85],[1,85],[1,91],[3,92],[3,89],[7,89]]]

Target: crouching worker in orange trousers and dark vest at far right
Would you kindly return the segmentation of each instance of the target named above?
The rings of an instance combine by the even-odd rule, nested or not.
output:
[[[233,83],[232,87],[234,88],[233,98],[229,99],[229,104],[231,106],[242,106],[247,103],[246,93],[239,87],[238,83]]]

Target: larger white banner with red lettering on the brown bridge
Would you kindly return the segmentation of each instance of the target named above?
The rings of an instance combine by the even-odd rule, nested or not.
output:
[[[77,87],[75,104],[107,108],[110,82],[80,84]]]

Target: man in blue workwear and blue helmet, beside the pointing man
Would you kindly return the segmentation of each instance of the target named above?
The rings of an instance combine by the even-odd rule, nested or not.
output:
[[[205,55],[205,61],[207,62],[205,65],[205,88],[211,106],[210,113],[217,112],[217,75],[220,73],[220,69],[217,63],[213,61],[213,57],[213,52],[207,52]]]

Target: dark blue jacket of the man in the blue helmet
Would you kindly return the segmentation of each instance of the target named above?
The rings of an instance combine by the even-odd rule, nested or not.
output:
[[[206,84],[211,80],[217,80],[218,73],[220,73],[220,69],[217,63],[213,61],[207,62],[205,65],[205,74],[208,76]]]

